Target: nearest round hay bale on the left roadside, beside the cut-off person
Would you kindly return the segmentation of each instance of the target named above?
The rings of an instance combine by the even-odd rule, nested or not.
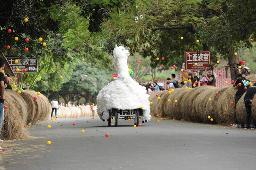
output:
[[[10,90],[5,91],[5,105],[7,105],[7,109],[4,110],[5,116],[1,127],[1,139],[24,139],[29,136],[27,129],[24,128],[25,121],[23,119],[26,112],[23,112],[24,109],[20,108],[19,100],[18,93],[13,95]]]

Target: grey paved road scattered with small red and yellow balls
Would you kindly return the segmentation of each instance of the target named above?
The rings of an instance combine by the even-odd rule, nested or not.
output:
[[[29,127],[35,139],[3,144],[7,151],[0,153],[0,165],[6,170],[256,169],[256,130],[156,119],[136,128],[132,121],[119,125],[106,127],[98,118],[41,122]]]

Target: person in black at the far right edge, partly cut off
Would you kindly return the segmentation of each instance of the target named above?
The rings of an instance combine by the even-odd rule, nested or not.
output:
[[[251,129],[255,129],[254,118],[252,116],[252,100],[255,94],[256,94],[256,83],[253,86],[249,87],[249,89],[247,89],[247,92],[244,97],[245,109],[246,109],[245,129],[248,128],[249,124]]]

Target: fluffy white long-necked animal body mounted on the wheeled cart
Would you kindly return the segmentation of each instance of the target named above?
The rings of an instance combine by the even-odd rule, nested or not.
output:
[[[117,62],[118,76],[106,85],[97,95],[97,112],[100,119],[109,118],[109,110],[132,110],[143,107],[141,120],[150,121],[150,102],[146,88],[135,82],[128,72],[129,51],[115,45],[114,58]]]

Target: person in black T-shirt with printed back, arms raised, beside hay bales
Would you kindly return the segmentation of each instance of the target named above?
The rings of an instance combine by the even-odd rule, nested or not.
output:
[[[234,123],[232,127],[237,128],[238,127],[238,119],[236,117],[236,106],[239,101],[239,99],[242,97],[242,95],[246,92],[245,87],[249,88],[249,80],[247,80],[245,77],[242,77],[242,74],[238,74],[236,76],[236,83],[233,84],[233,87],[238,85],[238,91],[236,93],[236,99],[235,99],[235,112],[234,112]],[[240,125],[239,125],[240,127]]]

